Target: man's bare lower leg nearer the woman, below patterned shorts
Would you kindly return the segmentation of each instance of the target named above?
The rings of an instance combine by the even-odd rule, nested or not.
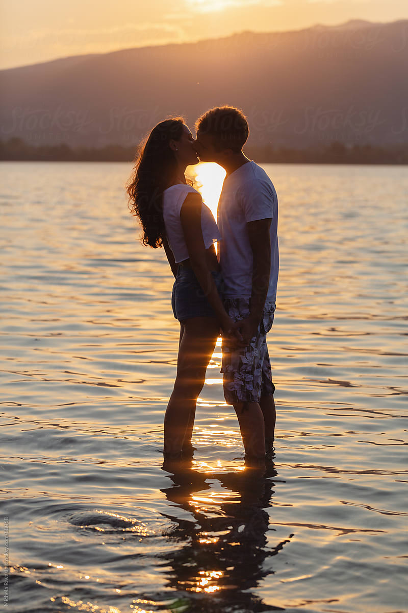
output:
[[[250,457],[265,457],[265,422],[258,402],[239,402],[234,405],[245,454]]]

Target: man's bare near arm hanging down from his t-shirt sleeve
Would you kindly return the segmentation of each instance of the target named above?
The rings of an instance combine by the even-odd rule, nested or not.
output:
[[[270,223],[272,218],[257,219],[247,223],[248,237],[253,257],[250,315],[234,324],[242,334],[240,347],[247,347],[257,331],[264,312],[270,277]]]

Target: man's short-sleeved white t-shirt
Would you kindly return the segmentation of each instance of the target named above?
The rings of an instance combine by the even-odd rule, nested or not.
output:
[[[218,202],[218,243],[226,298],[250,298],[253,257],[247,223],[272,218],[270,224],[270,278],[267,300],[276,300],[278,284],[278,197],[267,173],[246,162],[225,178]]]

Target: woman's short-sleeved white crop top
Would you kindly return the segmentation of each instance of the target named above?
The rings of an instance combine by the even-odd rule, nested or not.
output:
[[[167,240],[176,263],[182,262],[189,257],[180,220],[181,207],[187,194],[199,194],[199,192],[184,183],[172,185],[163,192],[163,219],[165,221]],[[212,212],[204,202],[201,206],[201,230],[206,249],[212,243],[221,239],[220,230],[218,230]]]

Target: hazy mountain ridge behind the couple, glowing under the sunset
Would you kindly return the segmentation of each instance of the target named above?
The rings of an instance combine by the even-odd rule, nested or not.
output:
[[[341,27],[340,27],[341,26]],[[130,145],[169,115],[248,116],[252,145],[407,142],[408,20],[239,32],[0,71],[2,140]]]

